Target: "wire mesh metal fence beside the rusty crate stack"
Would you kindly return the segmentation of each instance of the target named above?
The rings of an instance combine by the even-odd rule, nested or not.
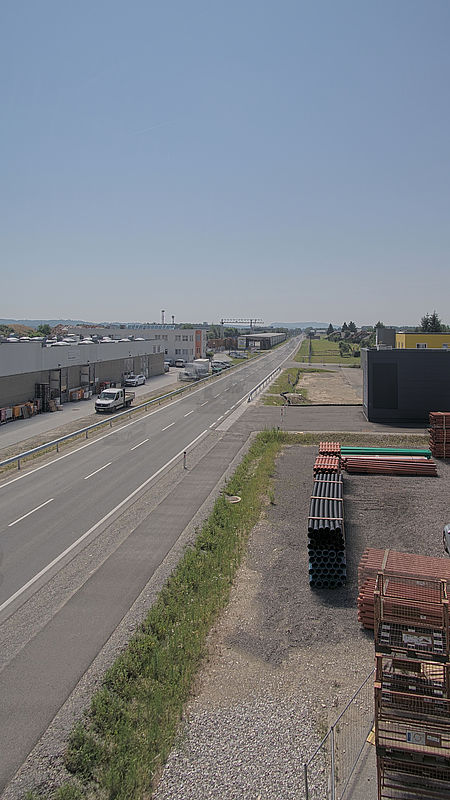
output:
[[[304,764],[306,800],[344,800],[374,721],[372,670]]]

